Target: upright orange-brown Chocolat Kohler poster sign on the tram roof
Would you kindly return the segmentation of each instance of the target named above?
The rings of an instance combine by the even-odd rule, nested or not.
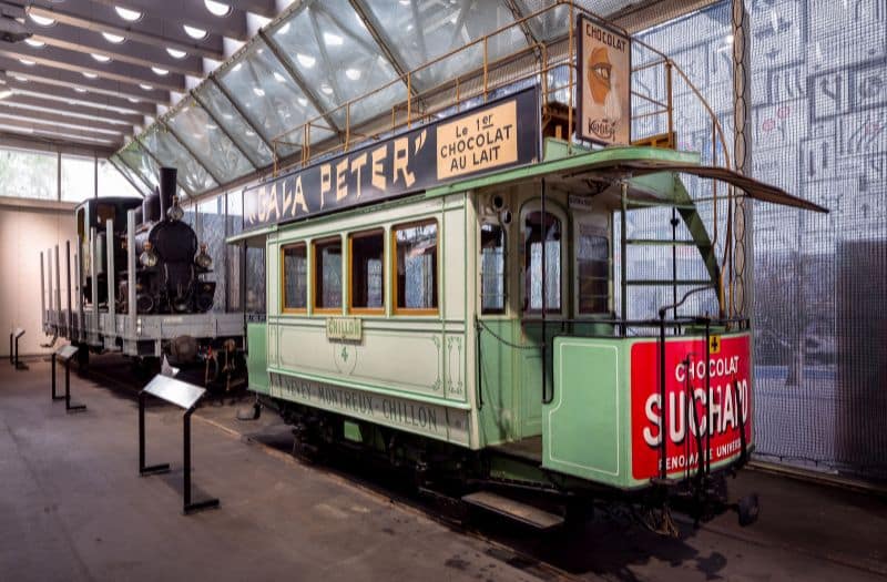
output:
[[[585,16],[577,23],[581,139],[631,141],[631,39]]]

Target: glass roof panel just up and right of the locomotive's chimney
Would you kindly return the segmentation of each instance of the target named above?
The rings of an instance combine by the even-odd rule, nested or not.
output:
[[[253,164],[194,100],[166,121],[214,176],[231,182],[253,171]]]

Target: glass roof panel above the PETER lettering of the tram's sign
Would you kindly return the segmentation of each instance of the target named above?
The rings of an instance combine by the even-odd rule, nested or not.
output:
[[[306,85],[314,88],[324,111],[398,76],[348,0],[309,3],[273,29],[271,37]],[[351,106],[351,124],[385,113],[406,96],[406,84],[398,82],[360,100]],[[345,127],[345,109],[332,116]]]

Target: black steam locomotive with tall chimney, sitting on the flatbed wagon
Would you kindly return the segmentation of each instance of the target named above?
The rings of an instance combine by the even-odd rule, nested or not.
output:
[[[81,256],[94,255],[94,267],[84,261],[83,298],[92,302],[93,274],[100,306],[108,307],[108,251],[113,248],[113,283],[116,284],[114,308],[129,310],[126,213],[135,210],[135,306],[139,314],[206,313],[215,299],[215,282],[204,280],[212,273],[213,261],[205,244],[197,244],[194,229],[182,221],[184,212],[175,196],[176,170],[162,167],[160,188],[137,198],[98,198],[78,208],[81,241],[89,245],[82,231],[94,227],[94,253],[83,248]],[[93,208],[90,208],[93,206]],[[113,221],[113,241],[108,244],[106,222]],[[93,270],[94,269],[94,270]],[[113,288],[113,285],[112,285]]]

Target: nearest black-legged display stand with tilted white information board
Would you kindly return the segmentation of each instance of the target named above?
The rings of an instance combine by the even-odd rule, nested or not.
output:
[[[194,385],[176,380],[163,375],[154,376],[145,388],[139,392],[139,474],[146,477],[150,474],[170,472],[170,464],[145,464],[145,399],[147,395],[165,400],[185,410],[182,417],[184,427],[184,504],[182,512],[187,515],[204,509],[218,507],[218,499],[207,499],[204,501],[191,501],[191,415],[196,409],[197,401],[203,398],[205,389]]]

